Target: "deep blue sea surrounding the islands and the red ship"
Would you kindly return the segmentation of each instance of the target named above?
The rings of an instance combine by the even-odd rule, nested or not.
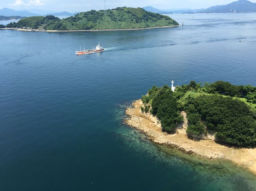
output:
[[[152,85],[256,86],[256,13],[171,17],[185,25],[0,30],[1,191],[256,190],[245,169],[167,154],[122,122]]]

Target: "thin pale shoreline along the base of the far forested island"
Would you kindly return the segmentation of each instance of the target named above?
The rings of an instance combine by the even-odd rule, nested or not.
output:
[[[158,29],[158,28],[170,28],[170,27],[179,27],[180,25],[172,25],[172,26],[163,26],[163,27],[149,27],[149,28],[138,28],[138,29],[95,29],[95,30],[65,30],[65,31],[58,31],[58,30],[42,30],[42,29],[20,29],[20,28],[2,28],[2,29],[13,29],[15,31],[29,31],[29,32],[81,32],[81,31],[135,31],[135,30],[145,30],[145,29]]]

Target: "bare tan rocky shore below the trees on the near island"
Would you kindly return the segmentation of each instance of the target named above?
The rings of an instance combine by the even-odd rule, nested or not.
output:
[[[132,108],[126,109],[129,116],[124,122],[144,133],[152,142],[178,149],[186,154],[195,154],[207,159],[229,160],[238,166],[245,167],[256,175],[256,148],[236,148],[217,144],[212,139],[194,141],[187,138],[186,113],[182,112],[184,122],[177,127],[177,134],[168,135],[161,130],[161,122],[149,113],[141,113],[141,100],[136,100]]]

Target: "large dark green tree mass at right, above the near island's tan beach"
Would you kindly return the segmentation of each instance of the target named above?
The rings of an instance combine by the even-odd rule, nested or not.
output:
[[[216,131],[217,139],[249,146],[256,143],[256,120],[250,107],[237,98],[202,95],[195,106],[201,119]]]

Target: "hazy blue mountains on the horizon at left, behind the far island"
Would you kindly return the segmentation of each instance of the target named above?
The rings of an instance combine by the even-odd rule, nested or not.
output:
[[[46,10],[41,10],[41,9],[29,9],[29,10],[36,11],[36,13],[32,13],[27,10],[15,11],[13,9],[4,8],[4,9],[0,10],[0,15],[1,16],[40,16],[40,15],[72,16],[72,15],[75,15],[75,14],[69,13],[67,11],[63,11],[60,13],[52,13],[52,11],[46,11]]]

